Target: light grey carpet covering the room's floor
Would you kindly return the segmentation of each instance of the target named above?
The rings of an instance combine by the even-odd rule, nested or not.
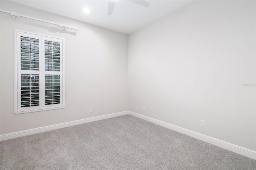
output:
[[[1,170],[256,170],[256,160],[124,115],[0,142]]]

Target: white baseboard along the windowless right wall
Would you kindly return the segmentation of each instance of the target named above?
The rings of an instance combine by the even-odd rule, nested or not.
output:
[[[192,130],[188,130],[188,129],[185,129],[185,128],[182,128],[182,127],[178,127],[178,126],[172,125],[170,123],[159,121],[159,120],[153,119],[151,117],[140,115],[138,113],[134,113],[134,112],[128,111],[128,114],[132,115],[132,116],[135,116],[135,117],[138,117],[140,119],[144,119],[146,121],[155,123],[155,124],[160,125],[162,127],[166,127],[166,128],[175,130],[177,132],[186,134],[188,136],[194,137],[194,138],[202,140],[204,142],[208,142],[210,144],[214,144],[214,145],[219,146],[221,148],[224,148],[226,150],[230,150],[232,152],[235,152],[235,153],[238,153],[238,154],[241,154],[243,156],[246,156],[246,157],[249,157],[249,158],[252,158],[252,159],[256,160],[256,151],[254,151],[254,150],[250,150],[250,149],[247,149],[247,148],[235,145],[235,144],[231,144],[231,143],[225,142],[223,140],[212,138],[210,136],[206,136],[204,134],[200,134],[200,133],[194,132]]]

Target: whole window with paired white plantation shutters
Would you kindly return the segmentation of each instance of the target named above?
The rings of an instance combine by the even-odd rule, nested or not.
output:
[[[15,32],[14,113],[64,108],[64,39]]]

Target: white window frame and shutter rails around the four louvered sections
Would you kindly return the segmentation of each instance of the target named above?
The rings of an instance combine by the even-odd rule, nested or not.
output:
[[[20,35],[21,34],[21,35]],[[20,68],[20,38],[26,36],[39,40],[39,71],[22,70]],[[45,71],[45,40],[60,42],[60,71]],[[22,73],[23,72],[23,73]],[[36,73],[38,72],[38,73]],[[20,107],[21,100],[21,74],[39,74],[39,106]],[[60,104],[45,105],[45,75],[60,75]],[[20,96],[19,96],[20,95]],[[62,37],[49,36],[22,30],[14,30],[14,114],[48,111],[65,108],[65,40]]]

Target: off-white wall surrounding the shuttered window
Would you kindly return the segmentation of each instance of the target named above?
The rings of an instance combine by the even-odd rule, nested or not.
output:
[[[19,12],[79,30],[26,18],[12,19],[0,12],[1,110],[0,134],[54,125],[128,110],[128,36],[98,26],[1,1],[1,9]],[[36,113],[14,113],[14,29],[65,38],[66,108]],[[89,113],[89,108],[93,113]]]

